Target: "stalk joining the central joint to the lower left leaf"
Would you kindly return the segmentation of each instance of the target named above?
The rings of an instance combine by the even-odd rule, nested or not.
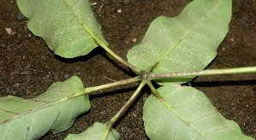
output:
[[[81,90],[80,92],[75,93],[72,96],[72,98],[76,97],[76,96],[83,96],[83,95],[92,93],[92,92],[97,91],[97,90],[104,90],[104,89],[107,89],[107,88],[110,88],[110,87],[114,87],[114,86],[118,86],[118,85],[127,85],[129,83],[134,83],[134,82],[137,82],[137,81],[140,81],[140,80],[141,80],[140,76],[137,76],[137,77],[134,77],[134,78],[131,78],[131,79],[124,79],[124,80],[116,81],[116,82],[113,82],[113,83],[110,83],[110,84],[106,84],[106,85],[98,85],[98,86],[94,86],[94,87],[86,87],[84,90]]]

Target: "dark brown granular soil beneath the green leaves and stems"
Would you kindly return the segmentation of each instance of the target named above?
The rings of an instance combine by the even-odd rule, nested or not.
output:
[[[103,26],[110,49],[123,58],[128,49],[140,43],[151,21],[159,15],[178,15],[189,0],[95,0],[92,9]],[[122,2],[121,2],[122,1]],[[217,58],[208,68],[256,66],[256,1],[233,2],[229,34],[219,46]],[[121,9],[122,13],[117,10]],[[57,81],[78,75],[85,86],[103,85],[112,80],[134,76],[101,48],[89,55],[63,59],[48,50],[42,38],[27,30],[27,19],[18,21],[16,1],[0,1],[0,96],[32,98]],[[9,36],[5,28],[17,35]],[[133,39],[137,42],[134,43]],[[42,139],[63,139],[68,133],[80,133],[94,122],[105,122],[122,107],[138,84],[102,90],[91,96],[89,113],[77,118],[74,125]],[[241,130],[256,137],[256,74],[200,77],[191,85],[205,92],[223,116],[234,120]],[[142,107],[149,91],[141,96],[119,120],[115,128],[122,139],[147,139],[143,130]]]

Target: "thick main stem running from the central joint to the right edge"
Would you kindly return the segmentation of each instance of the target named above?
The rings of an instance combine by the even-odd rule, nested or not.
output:
[[[256,67],[239,67],[239,68],[225,68],[225,69],[209,69],[197,72],[184,73],[145,73],[141,77],[143,79],[169,79],[180,77],[194,77],[194,76],[208,76],[221,74],[235,74],[235,73],[256,73]]]

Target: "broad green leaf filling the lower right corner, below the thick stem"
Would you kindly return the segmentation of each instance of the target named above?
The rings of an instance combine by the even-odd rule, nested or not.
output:
[[[151,95],[143,108],[146,135],[153,139],[253,139],[239,125],[226,120],[199,90],[166,84]]]

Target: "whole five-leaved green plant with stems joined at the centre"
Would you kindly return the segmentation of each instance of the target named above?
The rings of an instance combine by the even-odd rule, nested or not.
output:
[[[0,139],[37,139],[46,132],[65,131],[78,115],[90,109],[90,93],[138,81],[137,90],[108,122],[96,122],[83,133],[70,134],[66,139],[119,139],[112,125],[145,85],[152,90],[143,107],[147,137],[253,139],[242,134],[234,121],[224,119],[204,93],[180,85],[196,76],[256,72],[256,67],[203,70],[216,56],[217,47],[228,32],[231,0],[194,0],[176,17],[158,17],[142,42],[128,51],[128,61],[107,47],[88,1],[18,0],[17,3],[29,18],[28,28],[44,38],[55,54],[73,58],[101,46],[138,76],[86,88],[73,76],[51,85],[33,99],[0,98]],[[156,89],[152,83],[160,87]]]

